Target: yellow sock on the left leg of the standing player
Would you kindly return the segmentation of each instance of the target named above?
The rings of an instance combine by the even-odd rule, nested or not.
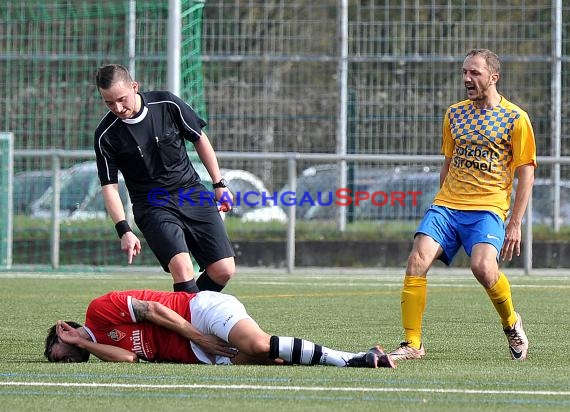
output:
[[[402,325],[409,346],[419,349],[422,343],[422,317],[426,307],[427,278],[406,276],[402,289]]]

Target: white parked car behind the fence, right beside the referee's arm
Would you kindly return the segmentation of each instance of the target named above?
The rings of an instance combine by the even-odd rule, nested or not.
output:
[[[234,207],[227,214],[243,222],[287,222],[285,212],[272,200],[264,201],[262,196],[271,197],[263,181],[246,170],[220,170],[234,195]]]

